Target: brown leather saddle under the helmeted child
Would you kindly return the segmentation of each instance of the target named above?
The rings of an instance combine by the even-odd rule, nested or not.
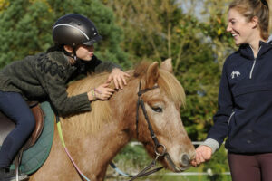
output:
[[[27,102],[29,107],[31,108],[34,119],[36,121],[35,129],[31,135],[31,137],[24,144],[24,150],[31,148],[34,146],[37,139],[40,137],[43,129],[44,129],[44,111],[41,109],[40,104],[38,102]],[[4,113],[0,111],[0,145],[3,142],[4,138],[7,134],[14,129],[15,124],[12,120],[8,119]],[[1,138],[3,139],[1,141]]]

